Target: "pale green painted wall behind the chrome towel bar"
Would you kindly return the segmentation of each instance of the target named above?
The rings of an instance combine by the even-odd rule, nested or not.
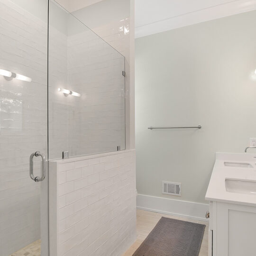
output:
[[[215,152],[256,137],[255,27],[251,11],[136,39],[138,193],[205,202]],[[162,181],[181,182],[182,196],[163,195]]]

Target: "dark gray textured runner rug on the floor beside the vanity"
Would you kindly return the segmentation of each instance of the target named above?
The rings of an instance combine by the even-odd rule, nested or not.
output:
[[[133,256],[198,256],[205,225],[162,217]]]

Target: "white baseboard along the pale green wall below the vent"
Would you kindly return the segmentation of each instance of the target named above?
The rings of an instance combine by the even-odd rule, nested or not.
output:
[[[205,213],[209,204],[138,194],[137,209],[207,221]]]

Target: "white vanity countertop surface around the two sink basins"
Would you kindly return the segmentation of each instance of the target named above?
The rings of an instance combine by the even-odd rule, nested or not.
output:
[[[256,181],[256,154],[216,153],[216,160],[205,195],[208,201],[256,206],[256,194],[227,192],[226,179]],[[225,166],[224,162],[248,163],[253,168]]]

